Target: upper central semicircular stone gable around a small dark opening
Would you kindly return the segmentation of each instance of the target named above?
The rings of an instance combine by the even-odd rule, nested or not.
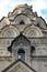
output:
[[[23,21],[25,24],[30,24],[31,19],[26,14],[17,14],[13,20],[11,20],[11,24],[20,24],[20,22]]]

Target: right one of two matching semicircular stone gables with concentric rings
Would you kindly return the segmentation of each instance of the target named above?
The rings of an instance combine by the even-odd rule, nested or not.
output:
[[[30,25],[30,27],[25,28],[23,31],[23,34],[28,37],[28,38],[43,37],[42,30],[35,25]]]

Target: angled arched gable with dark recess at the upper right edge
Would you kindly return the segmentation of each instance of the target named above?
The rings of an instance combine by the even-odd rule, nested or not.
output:
[[[34,24],[40,29],[46,29],[46,22],[42,17],[36,18]]]

